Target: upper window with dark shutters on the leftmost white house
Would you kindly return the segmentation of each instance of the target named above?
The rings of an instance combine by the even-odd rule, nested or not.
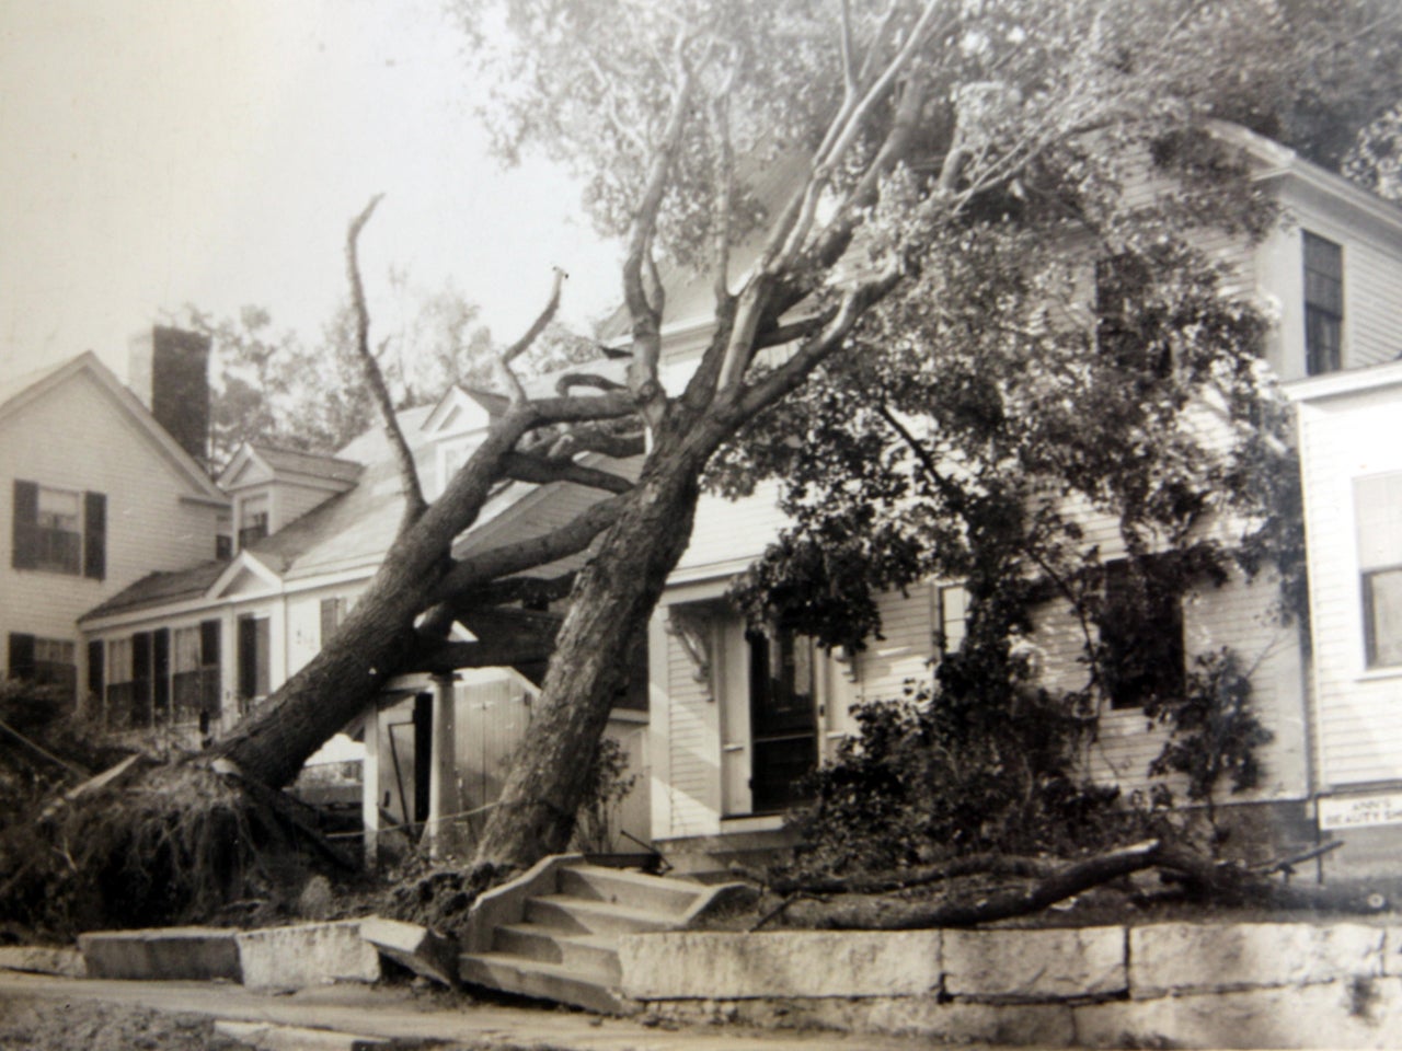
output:
[[[15,479],[11,551],[15,569],[101,580],[107,573],[107,497]]]

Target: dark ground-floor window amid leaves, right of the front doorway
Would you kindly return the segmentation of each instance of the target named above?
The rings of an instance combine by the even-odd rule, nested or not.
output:
[[[1183,692],[1183,607],[1152,559],[1105,566],[1101,670],[1110,708]]]

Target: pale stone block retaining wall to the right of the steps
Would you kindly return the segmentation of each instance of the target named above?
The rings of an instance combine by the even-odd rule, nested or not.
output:
[[[665,932],[621,939],[659,1015],[1060,1047],[1402,1047],[1402,925]]]

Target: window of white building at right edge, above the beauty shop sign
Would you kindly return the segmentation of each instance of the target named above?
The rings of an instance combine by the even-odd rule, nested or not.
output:
[[[1363,647],[1367,667],[1402,666],[1402,474],[1357,478]]]

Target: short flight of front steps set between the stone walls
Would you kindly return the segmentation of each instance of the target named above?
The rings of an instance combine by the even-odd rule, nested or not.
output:
[[[461,980],[604,1015],[635,1009],[617,992],[618,936],[686,926],[718,897],[716,887],[582,858],[548,859],[519,883],[482,902],[475,952],[458,957]]]

